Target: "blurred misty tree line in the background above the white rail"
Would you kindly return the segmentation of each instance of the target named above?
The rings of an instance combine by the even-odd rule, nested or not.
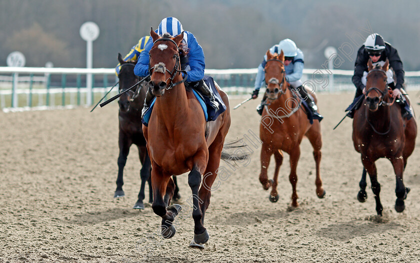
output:
[[[326,46],[338,48],[368,22],[395,46],[405,70],[420,70],[420,3],[334,0],[1,0],[0,66],[21,51],[26,66],[84,67],[85,21],[100,28],[93,42],[93,67],[114,67],[117,53],[156,29],[166,16],[177,17],[203,47],[206,68],[252,68],[265,51],[291,38],[305,55],[305,67],[320,68]],[[361,32],[367,37],[367,32]],[[362,41],[360,40],[360,45]],[[339,68],[352,69],[352,61]]]

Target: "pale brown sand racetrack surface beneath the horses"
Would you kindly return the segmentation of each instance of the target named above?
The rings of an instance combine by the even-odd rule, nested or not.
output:
[[[409,92],[420,113],[416,92]],[[420,145],[408,159],[411,187],[397,213],[390,162],[376,162],[383,217],[375,218],[370,189],[359,203],[362,164],[351,141],[351,120],[334,131],[353,93],[318,94],[325,198],[315,194],[315,164],[307,139],[297,167],[299,208],[289,211],[291,186],[285,154],[280,198],[268,200],[258,181],[259,150],[212,192],[205,249],[188,247],[191,217],[179,216],[176,234],[158,238],[160,217],[151,206],[134,210],[140,185],[138,154],[131,147],[125,197],[114,199],[118,156],[117,104],[97,108],[0,112],[0,262],[418,262],[420,260]],[[241,99],[232,99],[231,106]],[[227,140],[259,133],[252,100],[232,111]],[[220,162],[225,165],[224,161]],[[273,161],[269,168],[272,177]],[[178,176],[187,207],[187,176]],[[147,187],[146,187],[147,188]],[[146,191],[147,196],[147,191]],[[140,251],[141,250],[141,251]]]

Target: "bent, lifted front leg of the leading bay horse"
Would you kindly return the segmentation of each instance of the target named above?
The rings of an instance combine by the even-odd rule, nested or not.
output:
[[[163,195],[165,195],[166,202],[168,201],[167,186],[169,179],[170,174],[163,172],[156,163],[152,164],[151,185],[153,187],[153,203],[151,208],[155,214],[162,217],[161,234],[164,238],[171,238],[175,234],[175,227],[173,226],[172,222],[175,216],[181,210],[181,206],[179,204],[166,207],[167,203],[165,203],[163,200]]]

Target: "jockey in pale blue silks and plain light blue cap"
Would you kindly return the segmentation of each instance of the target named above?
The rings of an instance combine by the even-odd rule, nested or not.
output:
[[[270,47],[271,53],[279,54],[283,50],[284,54],[284,70],[286,73],[286,81],[292,86],[296,91],[299,91],[301,98],[306,101],[309,106],[309,109],[312,111],[313,118],[322,119],[322,116],[316,111],[317,107],[312,97],[306,92],[302,87],[302,81],[300,78],[303,74],[303,53],[297,48],[296,44],[289,38],[281,40],[278,44],[275,44]],[[254,91],[252,92],[252,98],[257,98],[259,93],[259,88],[263,83],[265,83],[265,72],[264,67],[267,63],[267,56],[264,55],[264,59],[258,66],[258,72],[255,77]],[[257,112],[261,115],[263,105],[265,104],[266,96],[264,95],[261,101],[261,104],[257,107]]]

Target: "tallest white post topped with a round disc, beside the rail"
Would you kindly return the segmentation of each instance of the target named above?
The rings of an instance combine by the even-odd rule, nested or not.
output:
[[[93,40],[99,36],[99,26],[94,22],[84,22],[80,26],[80,36],[86,43],[86,68],[92,68]],[[86,75],[86,104],[92,104],[92,74]]]

